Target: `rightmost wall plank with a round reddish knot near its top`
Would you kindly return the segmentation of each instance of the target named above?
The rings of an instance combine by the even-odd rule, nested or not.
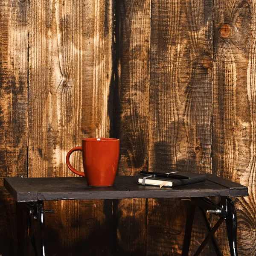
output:
[[[236,198],[239,255],[256,254],[255,1],[214,1],[212,173],[248,186]],[[217,233],[228,254],[225,226]]]

